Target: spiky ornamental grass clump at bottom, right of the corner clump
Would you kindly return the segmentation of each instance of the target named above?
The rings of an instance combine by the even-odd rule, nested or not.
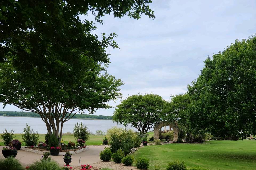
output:
[[[62,170],[62,167],[55,161],[41,160],[36,161],[29,166],[29,170]]]

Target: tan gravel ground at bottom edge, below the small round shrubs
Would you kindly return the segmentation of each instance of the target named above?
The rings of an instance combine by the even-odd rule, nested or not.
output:
[[[110,168],[113,170],[138,170],[136,167],[126,167],[124,164],[116,164],[113,161],[110,162],[97,162],[97,163],[93,163],[90,164],[92,166],[91,170],[100,170],[101,168]],[[80,167],[72,167],[72,170],[81,170],[81,166]]]

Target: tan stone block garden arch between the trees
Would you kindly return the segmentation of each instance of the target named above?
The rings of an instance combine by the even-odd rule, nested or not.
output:
[[[155,125],[154,140],[159,139],[159,131],[163,126],[170,126],[170,128],[173,128],[173,142],[176,142],[178,139],[179,127],[177,123],[169,121],[163,121]]]

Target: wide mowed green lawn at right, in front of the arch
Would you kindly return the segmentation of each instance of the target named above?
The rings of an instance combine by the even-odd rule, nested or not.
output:
[[[169,162],[184,161],[187,167],[209,170],[256,169],[256,141],[207,141],[205,144],[166,144],[145,146],[134,154],[150,160],[150,170],[159,165],[166,169]]]

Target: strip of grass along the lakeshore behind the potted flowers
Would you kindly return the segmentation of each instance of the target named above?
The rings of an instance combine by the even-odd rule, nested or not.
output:
[[[25,143],[23,142],[23,139],[21,137],[21,134],[14,134],[16,137],[14,139],[18,139],[19,141],[22,142],[22,146],[25,146]],[[104,136],[94,136],[94,135],[90,135],[90,138],[88,141],[86,141],[86,145],[101,145],[102,144],[102,140],[103,140]],[[68,143],[69,140],[71,142],[75,142],[75,138],[73,135],[63,135],[62,139],[64,141],[64,143]],[[39,134],[39,141],[45,141],[45,134]],[[0,138],[0,145],[4,146],[2,139]]]

